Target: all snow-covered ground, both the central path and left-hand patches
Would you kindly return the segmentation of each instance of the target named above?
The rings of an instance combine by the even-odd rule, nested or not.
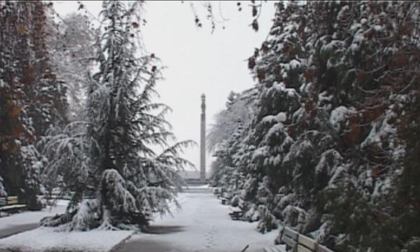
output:
[[[36,228],[0,239],[0,251],[104,252],[120,244],[113,251],[239,252],[249,245],[246,252],[256,252],[273,244],[278,230],[262,235],[255,231],[257,223],[232,221],[228,215],[230,207],[222,205],[211,193],[211,189],[195,189],[198,188],[190,188],[181,193],[178,199],[182,209],[174,209],[173,217],[156,218],[148,233],[133,235],[129,231],[95,230],[55,232],[54,228]],[[59,204],[52,212],[25,212],[6,217],[8,219],[0,218],[0,225],[7,228],[13,225],[13,220],[19,224],[39,221],[43,216],[60,212],[60,207],[64,211],[64,204]],[[131,239],[121,245],[129,237]]]

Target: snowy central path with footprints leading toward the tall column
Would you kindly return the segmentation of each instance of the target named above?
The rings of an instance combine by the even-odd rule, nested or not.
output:
[[[277,230],[262,235],[256,223],[232,221],[230,209],[210,191],[194,190],[180,195],[181,211],[151,223],[151,234],[134,235],[116,252],[246,252],[262,251],[273,244]]]

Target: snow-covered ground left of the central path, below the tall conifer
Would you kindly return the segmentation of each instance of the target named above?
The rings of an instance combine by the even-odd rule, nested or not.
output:
[[[25,211],[0,218],[2,230],[14,230],[15,227],[31,227],[41,218],[64,213],[68,201],[60,200],[57,207],[43,211]],[[54,228],[36,228],[18,235],[0,239],[0,251],[89,251],[104,252],[132,235],[130,231],[92,231],[92,232],[55,232]]]

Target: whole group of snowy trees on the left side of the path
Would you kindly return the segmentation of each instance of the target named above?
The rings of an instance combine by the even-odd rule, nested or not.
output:
[[[92,29],[82,15],[53,18],[51,3],[0,2],[1,193],[31,205],[73,192],[43,225],[139,228],[176,203],[193,143],[170,144],[170,109],[152,101],[162,67],[141,45],[142,4],[104,1]]]

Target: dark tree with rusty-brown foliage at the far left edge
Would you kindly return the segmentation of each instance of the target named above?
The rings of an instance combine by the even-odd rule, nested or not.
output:
[[[66,89],[50,67],[46,3],[1,1],[0,174],[10,195],[38,208],[41,156],[34,144],[65,120]]]

